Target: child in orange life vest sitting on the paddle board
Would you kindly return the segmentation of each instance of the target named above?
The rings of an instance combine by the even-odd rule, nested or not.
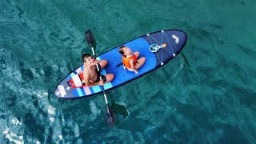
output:
[[[140,68],[146,61],[145,57],[138,58],[139,52],[132,52],[127,46],[120,46],[119,53],[122,54],[123,68],[126,70],[134,71],[138,74],[138,68]],[[138,59],[137,59],[138,58]]]

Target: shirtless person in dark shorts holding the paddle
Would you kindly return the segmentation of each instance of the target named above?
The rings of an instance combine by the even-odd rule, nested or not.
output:
[[[107,65],[106,59],[98,61],[96,58],[91,57],[90,54],[82,54],[83,61],[83,78],[86,86],[103,85],[104,83],[111,82],[114,79],[114,74],[101,75],[98,69],[102,70]]]

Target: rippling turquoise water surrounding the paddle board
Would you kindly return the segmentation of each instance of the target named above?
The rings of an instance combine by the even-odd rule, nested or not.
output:
[[[256,1],[0,2],[0,140],[7,143],[256,143]],[[90,52],[183,30],[182,53],[102,95],[59,100],[54,86]],[[112,100],[111,100],[112,99]]]

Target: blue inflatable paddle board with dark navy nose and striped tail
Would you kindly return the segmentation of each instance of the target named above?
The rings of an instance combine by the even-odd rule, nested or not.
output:
[[[182,50],[186,39],[186,33],[182,30],[161,30],[120,45],[128,46],[133,51],[139,51],[139,58],[146,58],[144,65],[138,69],[138,74],[124,70],[123,66],[118,66],[122,63],[122,56],[118,52],[120,46],[99,55],[98,60],[106,59],[108,61],[108,65],[101,71],[101,74],[114,74],[114,80],[104,84],[104,89],[112,90],[164,66]],[[63,78],[56,86],[55,96],[62,99],[75,99],[102,93],[102,86],[82,85],[82,71],[83,65]],[[70,86],[70,82],[72,86]]]

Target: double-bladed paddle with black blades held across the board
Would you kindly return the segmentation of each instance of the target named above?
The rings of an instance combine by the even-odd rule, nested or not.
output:
[[[91,47],[91,50],[93,51],[94,57],[96,58],[95,53],[94,53],[94,35],[93,35],[93,33],[90,30],[86,31],[86,42]],[[97,66],[97,70],[99,71],[98,65],[96,65],[96,66]],[[100,79],[102,80],[101,77],[100,77]],[[114,126],[114,123],[115,123],[114,111],[111,109],[111,107],[109,106],[109,103],[107,102],[104,86],[102,86],[102,89],[103,89],[103,94],[104,94],[104,98],[105,98],[105,101],[106,101],[106,118],[107,118],[107,122],[108,122],[109,126]]]

